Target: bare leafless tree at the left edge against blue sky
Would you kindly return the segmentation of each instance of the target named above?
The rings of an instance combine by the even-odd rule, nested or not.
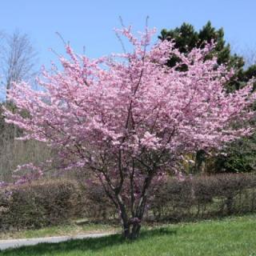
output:
[[[27,34],[18,30],[13,34],[0,34],[0,158],[4,159],[0,165],[1,176],[3,172],[10,173],[10,168],[7,168],[5,163],[12,162],[15,158],[10,154],[14,152],[14,137],[22,133],[16,126],[4,122],[2,106],[5,105],[9,110],[15,109],[13,102],[6,101],[6,91],[13,82],[30,81],[34,77],[36,57]]]

